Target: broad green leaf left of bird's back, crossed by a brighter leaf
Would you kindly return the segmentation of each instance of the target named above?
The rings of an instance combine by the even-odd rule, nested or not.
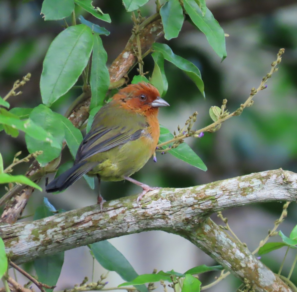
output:
[[[64,140],[64,127],[61,119],[57,117],[57,114],[51,111],[45,105],[38,105],[30,114],[30,119],[42,126],[45,131],[49,132],[56,141],[58,141],[58,147],[53,147],[46,141],[38,141],[34,137],[30,137],[28,134],[25,135],[27,148],[30,153],[38,150],[42,150],[43,153],[36,157],[36,160],[41,166],[45,166],[48,162],[55,159],[60,155],[62,149],[62,143]]]

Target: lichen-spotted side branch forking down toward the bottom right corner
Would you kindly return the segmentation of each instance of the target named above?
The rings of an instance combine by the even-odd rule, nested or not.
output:
[[[279,276],[259,261],[247,247],[223,231],[210,218],[198,228],[189,228],[183,237],[256,291],[291,291]]]

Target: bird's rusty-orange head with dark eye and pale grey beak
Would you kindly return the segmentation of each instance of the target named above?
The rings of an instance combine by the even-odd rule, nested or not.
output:
[[[157,114],[159,107],[169,106],[160,97],[158,89],[145,82],[126,86],[113,96],[113,100],[120,102],[126,109],[144,115]]]

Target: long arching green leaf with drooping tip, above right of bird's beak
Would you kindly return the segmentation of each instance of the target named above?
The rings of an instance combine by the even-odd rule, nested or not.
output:
[[[158,42],[155,42],[153,44],[152,48],[154,50],[156,50],[157,52],[162,53],[164,58],[167,61],[173,63],[176,67],[183,70],[184,73],[186,75],[188,75],[189,78],[192,79],[192,81],[194,81],[194,83],[196,84],[196,86],[198,87],[200,92],[205,97],[204,84],[203,84],[203,81],[201,79],[200,71],[193,63],[191,63],[187,59],[182,58],[181,56],[175,55],[172,52],[172,50],[170,49],[170,47],[168,45],[166,45],[166,44],[160,44]]]

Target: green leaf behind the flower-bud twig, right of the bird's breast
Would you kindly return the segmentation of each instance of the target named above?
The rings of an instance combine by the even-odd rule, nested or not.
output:
[[[170,133],[170,131],[160,125],[160,137],[159,143],[163,143],[173,139],[174,136]],[[176,158],[183,160],[184,162],[189,163],[203,171],[207,171],[206,165],[200,159],[200,157],[190,148],[190,146],[186,143],[181,143],[177,148],[173,148],[168,151],[171,155]]]

